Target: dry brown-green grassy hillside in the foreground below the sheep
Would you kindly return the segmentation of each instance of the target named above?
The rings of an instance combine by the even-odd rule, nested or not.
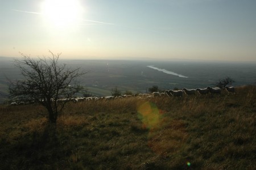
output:
[[[0,105],[0,169],[255,169],[255,94]]]

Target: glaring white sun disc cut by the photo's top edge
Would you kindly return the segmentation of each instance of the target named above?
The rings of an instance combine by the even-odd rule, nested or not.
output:
[[[67,28],[79,23],[82,9],[77,0],[45,0],[42,13],[51,26]]]

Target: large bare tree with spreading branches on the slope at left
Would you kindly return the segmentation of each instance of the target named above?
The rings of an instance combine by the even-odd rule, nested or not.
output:
[[[38,57],[37,60],[21,53],[22,60],[14,60],[14,65],[23,78],[15,82],[9,80],[9,90],[13,101],[46,107],[49,122],[56,123],[65,104],[83,89],[77,77],[85,73],[80,72],[80,68],[70,69],[59,64],[60,54],[49,52],[52,57]]]

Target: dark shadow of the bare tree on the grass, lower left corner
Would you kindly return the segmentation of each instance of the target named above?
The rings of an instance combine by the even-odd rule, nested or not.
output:
[[[48,169],[49,165],[57,165],[62,155],[53,123],[41,132],[29,132],[10,142],[1,140],[0,146],[0,169]]]

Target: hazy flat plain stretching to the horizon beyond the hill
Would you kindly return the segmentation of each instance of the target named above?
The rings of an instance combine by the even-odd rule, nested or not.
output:
[[[0,102],[4,101],[8,86],[6,77],[15,80],[20,77],[13,58],[0,57]],[[81,68],[88,72],[80,78],[81,85],[93,96],[110,96],[117,86],[121,92],[129,90],[146,93],[157,85],[159,89],[206,88],[221,78],[231,77],[234,86],[255,85],[256,63],[234,63],[220,61],[186,60],[61,60],[71,68]],[[164,73],[164,69],[181,76]]]

